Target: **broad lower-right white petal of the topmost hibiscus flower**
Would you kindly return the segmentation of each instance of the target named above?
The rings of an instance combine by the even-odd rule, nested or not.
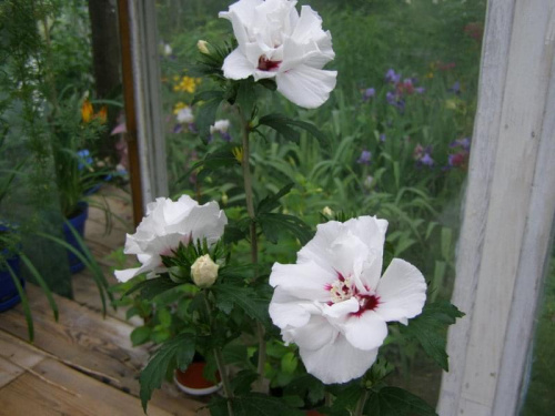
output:
[[[305,109],[322,105],[335,88],[337,72],[299,65],[275,77],[278,91]]]

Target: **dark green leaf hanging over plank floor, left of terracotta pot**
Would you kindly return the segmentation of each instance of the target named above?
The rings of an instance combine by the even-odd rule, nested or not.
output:
[[[194,337],[190,333],[183,333],[163,344],[152,356],[149,364],[141,372],[141,404],[144,412],[154,388],[160,388],[165,378],[165,373],[172,363],[184,371],[191,364],[194,355]]]

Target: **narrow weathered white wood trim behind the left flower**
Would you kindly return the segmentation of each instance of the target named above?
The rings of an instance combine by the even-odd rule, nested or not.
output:
[[[129,14],[142,203],[147,206],[169,194],[155,2],[131,0]]]

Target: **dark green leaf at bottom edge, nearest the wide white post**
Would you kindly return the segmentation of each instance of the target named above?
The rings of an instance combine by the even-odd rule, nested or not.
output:
[[[437,416],[434,408],[422,398],[398,387],[372,392],[364,409],[372,416]]]

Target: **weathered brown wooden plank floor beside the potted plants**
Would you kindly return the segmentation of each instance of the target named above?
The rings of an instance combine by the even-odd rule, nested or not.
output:
[[[114,282],[109,254],[124,242],[131,223],[129,197],[103,189],[105,201],[123,223],[104,233],[100,210],[91,209],[85,227],[88,246],[107,277]],[[54,322],[47,298],[32,284],[27,294],[34,321],[34,343],[28,334],[21,305],[0,314],[0,415],[142,415],[138,377],[149,358],[148,347],[133,347],[130,334],[138,321],[125,322],[123,310],[101,314],[101,301],[89,272],[72,277],[74,300],[56,296]],[[172,384],[157,390],[149,415],[198,415],[204,406]]]

